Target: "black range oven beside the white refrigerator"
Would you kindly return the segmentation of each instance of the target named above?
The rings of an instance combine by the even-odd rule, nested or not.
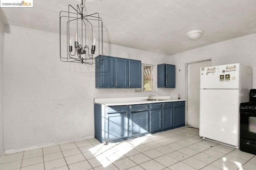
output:
[[[240,104],[240,150],[256,154],[256,89],[250,90],[250,102]]]

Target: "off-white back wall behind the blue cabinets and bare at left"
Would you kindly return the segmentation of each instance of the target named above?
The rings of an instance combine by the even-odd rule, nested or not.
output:
[[[96,89],[94,65],[60,61],[56,33],[10,25],[4,50],[5,149],[94,137],[94,98],[166,96],[171,92]],[[144,64],[171,62],[168,55],[109,44],[104,44],[104,55]]]

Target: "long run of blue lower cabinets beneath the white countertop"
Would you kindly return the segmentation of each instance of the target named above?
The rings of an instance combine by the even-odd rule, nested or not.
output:
[[[108,144],[185,125],[185,101],[105,106],[94,104],[95,138]]]

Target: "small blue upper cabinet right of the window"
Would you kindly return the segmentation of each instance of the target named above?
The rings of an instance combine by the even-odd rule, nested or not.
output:
[[[175,65],[157,65],[157,87],[175,88]]]

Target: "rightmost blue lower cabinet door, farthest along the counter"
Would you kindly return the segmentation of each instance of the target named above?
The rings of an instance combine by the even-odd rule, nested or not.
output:
[[[185,107],[174,107],[173,108],[173,125],[181,126],[185,125]]]

